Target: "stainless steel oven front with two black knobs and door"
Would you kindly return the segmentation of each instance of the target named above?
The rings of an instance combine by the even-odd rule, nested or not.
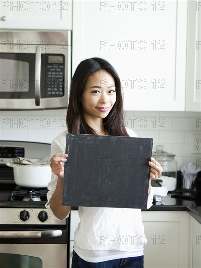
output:
[[[24,222],[28,215],[30,218]],[[37,258],[41,264],[27,264],[26,268],[66,268],[67,236],[66,221],[54,219],[48,209],[0,208],[0,255],[9,254],[13,264],[19,258],[24,262],[22,257],[25,256],[26,259]],[[6,266],[8,261],[3,263],[2,258],[1,256],[1,267],[24,267],[19,261],[17,266]]]

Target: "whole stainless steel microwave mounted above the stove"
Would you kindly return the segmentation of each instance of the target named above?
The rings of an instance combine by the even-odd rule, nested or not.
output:
[[[0,110],[66,108],[71,31],[2,30]]]

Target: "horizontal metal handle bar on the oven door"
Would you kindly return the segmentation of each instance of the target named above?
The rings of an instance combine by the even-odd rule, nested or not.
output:
[[[49,231],[0,231],[0,238],[40,238],[59,237],[63,233],[61,230]]]

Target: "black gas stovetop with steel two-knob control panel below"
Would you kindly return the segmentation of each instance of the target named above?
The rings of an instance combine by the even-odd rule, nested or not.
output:
[[[22,188],[17,185],[0,185],[0,225],[27,224],[27,225],[55,225],[65,224],[59,221],[47,203],[48,189]]]

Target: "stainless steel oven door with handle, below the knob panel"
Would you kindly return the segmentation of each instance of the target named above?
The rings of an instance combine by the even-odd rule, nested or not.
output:
[[[11,267],[9,256],[12,258],[12,267],[67,267],[67,229],[1,228],[0,239],[1,267]],[[19,266],[22,261],[23,265]],[[17,266],[15,262],[18,262]],[[32,266],[33,263],[37,265]]]

